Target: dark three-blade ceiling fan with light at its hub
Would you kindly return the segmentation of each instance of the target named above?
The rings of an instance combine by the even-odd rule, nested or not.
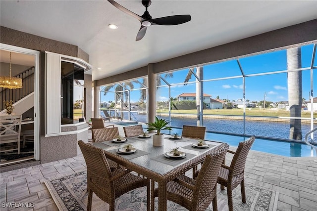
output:
[[[108,0],[113,6],[121,10],[122,12],[131,15],[132,17],[138,19],[141,23],[141,28],[137,34],[137,38],[135,41],[141,40],[147,31],[147,28],[151,25],[178,25],[182,23],[186,23],[191,20],[190,15],[172,15],[172,16],[166,16],[161,18],[153,18],[148,12],[148,7],[151,5],[151,0],[142,0],[143,6],[145,6],[145,12],[143,15],[139,16],[135,14],[134,12],[131,12],[127,8],[121,6],[114,0]]]

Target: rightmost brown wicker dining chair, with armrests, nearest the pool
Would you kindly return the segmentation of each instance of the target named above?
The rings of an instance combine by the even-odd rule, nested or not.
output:
[[[235,152],[228,150],[227,152],[234,154],[230,167],[225,166],[224,163],[221,165],[217,182],[220,184],[221,190],[224,190],[224,187],[227,187],[229,211],[233,211],[232,190],[239,184],[241,186],[242,202],[246,203],[244,168],[247,156],[255,139],[256,138],[252,136],[248,140],[240,142]]]

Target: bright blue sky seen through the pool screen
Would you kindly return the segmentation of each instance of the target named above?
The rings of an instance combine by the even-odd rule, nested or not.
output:
[[[310,67],[313,53],[313,44],[302,46],[302,67]],[[260,54],[239,59],[241,67],[245,75],[267,73],[287,69],[286,50],[275,51],[271,53]],[[314,66],[317,66],[317,58],[315,58]],[[183,83],[188,73],[188,69],[173,73],[173,78],[167,78],[166,81],[170,84]],[[164,76],[164,74],[162,74]],[[204,66],[204,80],[226,78],[233,76],[241,76],[241,71],[236,60],[220,62],[216,64]],[[195,77],[192,76],[190,82],[194,82]],[[303,97],[309,99],[311,90],[310,70],[302,72]],[[250,101],[265,100],[272,102],[287,101],[287,73],[279,73],[272,75],[246,77],[246,99]],[[162,84],[164,84],[162,82]],[[135,88],[140,85],[135,84]],[[314,88],[317,87],[317,72],[314,72]],[[220,99],[238,100],[243,98],[243,79],[227,79],[211,82],[204,82],[204,93],[212,95],[212,98],[217,96]],[[195,84],[173,85],[171,88],[171,96],[177,97],[183,92],[196,92]],[[131,96],[131,102],[139,100],[139,91],[134,91]],[[168,99],[168,88],[160,87],[158,90],[159,101]],[[113,100],[113,96],[104,96],[102,94],[101,101]]]

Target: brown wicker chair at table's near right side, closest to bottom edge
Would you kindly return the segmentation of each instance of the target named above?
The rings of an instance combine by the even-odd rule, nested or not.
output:
[[[217,211],[217,177],[224,160],[228,144],[207,155],[196,179],[180,175],[166,185],[167,200],[173,201],[189,211],[205,211],[212,202],[212,210]],[[154,190],[154,198],[158,196]]]

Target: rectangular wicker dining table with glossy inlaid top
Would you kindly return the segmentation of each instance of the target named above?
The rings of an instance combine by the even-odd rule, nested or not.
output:
[[[206,141],[208,146],[202,148],[197,147],[197,139],[187,137],[173,139],[172,136],[164,134],[164,145],[158,147],[153,146],[152,136],[148,138],[127,137],[127,140],[123,143],[103,141],[92,144],[104,149],[108,159],[151,179],[152,196],[155,182],[157,182],[159,187],[159,211],[166,211],[166,183],[196,167],[207,154],[222,148],[225,143]],[[133,145],[136,149],[134,153],[124,153],[122,148],[127,144]],[[176,147],[179,147],[181,157],[174,158],[169,154],[171,149]],[[154,210],[154,208],[151,208],[151,210]]]

